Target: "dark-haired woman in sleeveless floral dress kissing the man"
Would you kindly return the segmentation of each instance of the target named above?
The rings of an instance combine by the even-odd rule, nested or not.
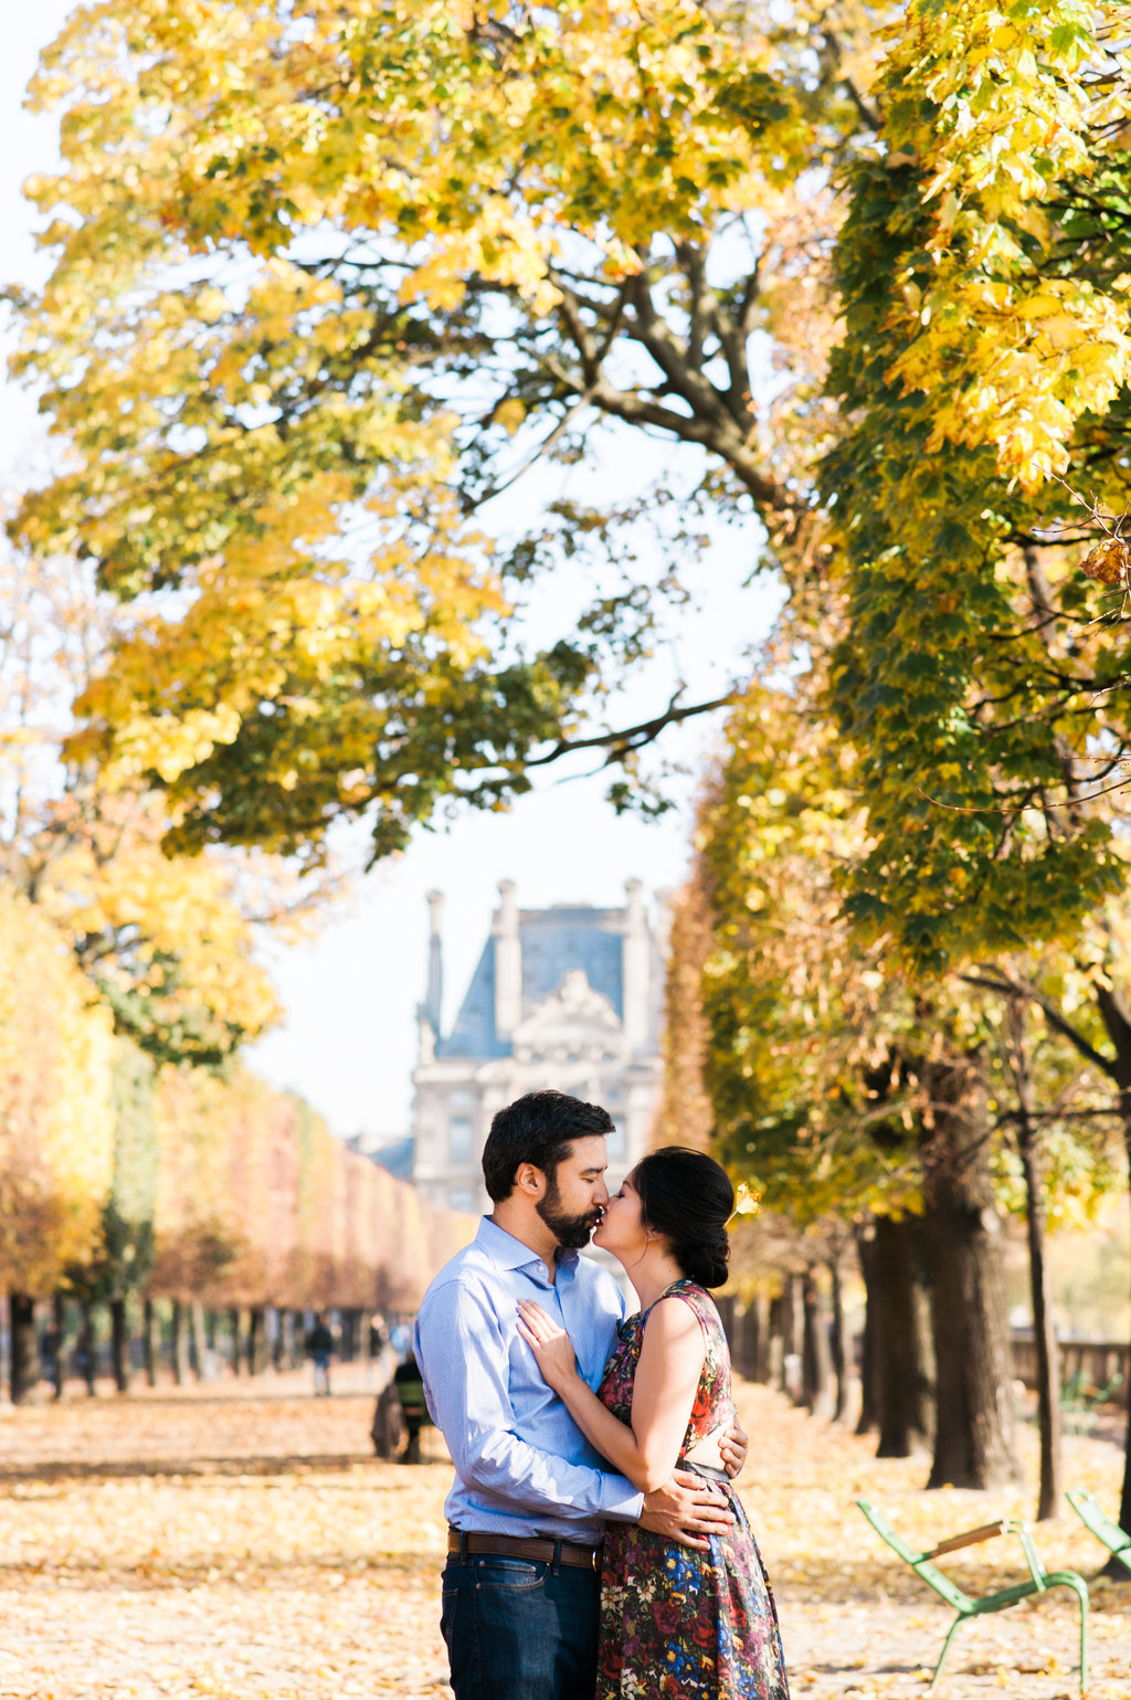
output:
[[[735,1527],[696,1549],[611,1523],[600,1572],[597,1700],[787,1700],[774,1596],[750,1525],[721,1467],[730,1352],[708,1287],[726,1280],[735,1190],[701,1151],[653,1151],[609,1200],[594,1244],[636,1289],[639,1314],[600,1387],[577,1374],[570,1336],[537,1304],[519,1328],[578,1428],[641,1491],[675,1467],[718,1482]]]

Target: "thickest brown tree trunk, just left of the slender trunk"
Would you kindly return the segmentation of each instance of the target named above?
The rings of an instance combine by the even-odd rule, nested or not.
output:
[[[924,1250],[937,1365],[927,1486],[1002,1488],[1020,1472],[980,1059],[930,1062],[924,1085]]]

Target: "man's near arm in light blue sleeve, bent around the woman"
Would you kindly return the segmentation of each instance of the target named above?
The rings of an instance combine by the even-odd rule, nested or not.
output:
[[[429,1411],[463,1482],[515,1511],[580,1523],[639,1518],[643,1496],[622,1476],[568,1464],[515,1433],[507,1345],[483,1295],[458,1282],[439,1287],[417,1318],[415,1343]]]

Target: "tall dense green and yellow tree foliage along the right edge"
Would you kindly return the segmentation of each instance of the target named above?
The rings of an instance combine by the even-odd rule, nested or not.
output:
[[[1005,994],[1000,952],[1063,940],[1116,1054],[1128,22],[908,8],[876,87],[884,151],[850,173],[832,388],[852,428],[825,483],[847,612],[832,700],[871,833],[852,911],[912,972],[978,964]]]

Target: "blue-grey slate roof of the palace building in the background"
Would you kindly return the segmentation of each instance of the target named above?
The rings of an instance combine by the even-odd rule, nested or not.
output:
[[[522,945],[522,1015],[529,1015],[570,969],[583,969],[621,1020],[621,933],[624,910],[556,904],[553,910],[519,910]],[[464,993],[456,1023],[435,1047],[437,1057],[505,1057],[510,1040],[495,1030],[495,940],[488,938]]]

